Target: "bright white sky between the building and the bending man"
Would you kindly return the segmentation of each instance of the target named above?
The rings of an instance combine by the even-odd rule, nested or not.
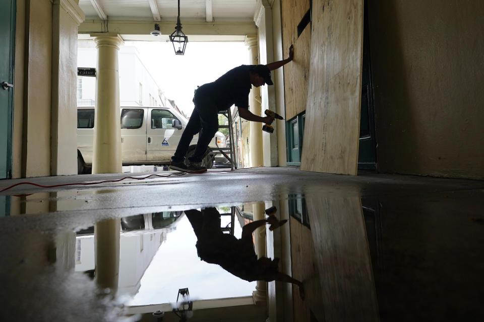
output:
[[[233,67],[249,63],[243,42],[189,42],[185,55],[175,55],[170,42],[125,42],[135,46],[140,59],[165,96],[174,100],[187,116],[193,111],[197,86],[215,81]]]

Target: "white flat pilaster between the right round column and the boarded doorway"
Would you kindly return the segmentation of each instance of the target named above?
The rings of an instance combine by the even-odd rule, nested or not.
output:
[[[254,22],[259,30],[259,63],[267,64],[274,61],[274,50],[272,43],[272,9],[267,0],[258,0],[257,7],[254,13]],[[277,86],[277,79],[274,78],[274,71],[272,72],[272,81],[274,86],[262,86],[262,111],[267,109],[277,111],[275,86]],[[265,167],[277,167],[277,123],[272,123],[274,133],[262,133],[262,144],[264,154]]]

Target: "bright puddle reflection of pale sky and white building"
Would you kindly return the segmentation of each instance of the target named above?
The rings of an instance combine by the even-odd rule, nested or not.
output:
[[[230,226],[231,217],[223,219],[219,223]],[[237,219],[244,218],[239,215]],[[240,221],[232,226],[235,234],[241,231]],[[95,269],[94,232],[94,227],[77,232],[76,271]],[[120,219],[117,294],[129,296],[129,305],[169,303],[183,287],[189,287],[192,296],[200,300],[252,294],[255,283],[201,261],[196,242],[190,221],[182,211]]]

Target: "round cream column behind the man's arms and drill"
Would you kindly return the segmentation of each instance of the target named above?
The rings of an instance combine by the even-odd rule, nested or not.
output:
[[[259,64],[259,47],[257,46],[257,35],[246,36],[246,45],[249,46],[250,63]],[[249,95],[249,104],[251,112],[255,115],[261,115],[261,89],[252,87]],[[259,122],[250,122],[251,134],[251,166],[258,167],[264,164],[262,155],[262,124]]]

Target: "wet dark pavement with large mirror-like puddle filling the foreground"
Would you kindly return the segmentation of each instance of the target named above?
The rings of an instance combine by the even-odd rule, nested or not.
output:
[[[270,282],[265,310],[225,320],[484,319],[482,181],[291,168],[129,175],[140,180],[29,178],[74,185],[0,194],[0,320],[148,321],[171,310],[184,287],[194,302],[189,320],[202,307],[250,314],[256,282],[202,261],[185,211],[233,213],[221,227],[233,220],[240,238],[257,204],[288,220],[265,231],[267,257],[304,282],[305,298],[295,285]],[[24,181],[4,180],[0,190]]]

